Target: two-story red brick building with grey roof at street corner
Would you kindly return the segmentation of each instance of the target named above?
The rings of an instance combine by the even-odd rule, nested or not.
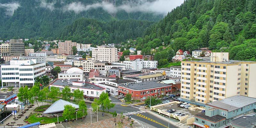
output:
[[[119,95],[132,94],[132,100],[145,100],[149,96],[158,97],[160,95],[171,94],[172,85],[161,84],[153,81],[135,83],[127,85],[119,85]]]

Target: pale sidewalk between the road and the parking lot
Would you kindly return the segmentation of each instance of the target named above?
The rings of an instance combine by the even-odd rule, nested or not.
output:
[[[154,111],[150,111],[149,108],[145,109],[145,107],[140,107],[140,110],[142,111],[145,111],[153,116],[156,116],[166,122],[169,122],[169,118],[168,117],[165,117],[165,116],[162,116],[162,115],[159,115],[158,113],[154,112]],[[193,125],[186,125],[186,124],[182,124],[180,123],[179,121],[176,121],[176,120],[173,120],[173,119],[170,119],[170,124],[173,124],[179,128],[188,128],[189,126],[191,126],[191,128],[193,128]]]

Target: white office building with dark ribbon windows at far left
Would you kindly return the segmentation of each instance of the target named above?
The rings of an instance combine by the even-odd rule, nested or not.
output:
[[[10,60],[10,65],[1,66],[2,87],[22,84],[32,86],[36,77],[45,75],[45,63],[36,63],[36,60]]]

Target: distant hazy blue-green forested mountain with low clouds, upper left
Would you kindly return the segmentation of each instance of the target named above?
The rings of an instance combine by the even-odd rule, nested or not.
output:
[[[114,24],[116,20],[158,21],[164,17],[163,14],[129,10],[128,5],[136,5],[140,2],[141,0],[1,0],[0,38],[57,39],[60,33],[67,30],[67,25],[81,21],[75,21],[79,18],[96,19],[98,23],[113,21]],[[129,21],[136,23],[134,20]],[[138,23],[140,22],[143,21]],[[71,31],[75,32],[75,30]],[[61,37],[67,38],[67,35]]]

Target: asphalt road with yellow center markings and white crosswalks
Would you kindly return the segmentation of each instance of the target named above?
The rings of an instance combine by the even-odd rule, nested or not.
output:
[[[165,122],[164,120],[157,118],[156,116],[153,116],[147,112],[142,112],[140,111],[140,106],[142,105],[134,105],[134,106],[121,106],[120,103],[121,101],[113,96],[110,96],[112,99],[112,103],[115,103],[115,107],[109,109],[109,111],[116,113],[121,113],[123,112],[126,116],[131,116],[132,118],[135,118],[137,120],[140,120],[142,122],[145,122],[147,124],[150,124],[152,126],[155,126],[157,128],[168,128],[168,122]],[[164,100],[165,101],[165,100]],[[87,108],[90,108],[91,105],[90,102],[87,102]],[[169,128],[178,128],[172,124],[169,124]]]

